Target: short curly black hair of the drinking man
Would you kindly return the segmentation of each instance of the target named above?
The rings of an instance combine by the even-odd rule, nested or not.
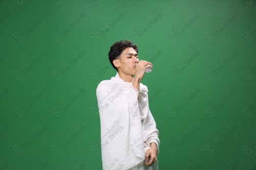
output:
[[[134,44],[131,40],[121,40],[121,41],[117,41],[115,42],[111,47],[110,47],[110,51],[109,51],[109,60],[111,65],[117,70],[116,66],[113,64],[113,60],[118,59],[123,50],[125,50],[127,47],[132,47],[134,48],[134,50],[138,52],[138,47],[136,44]],[[118,70],[117,70],[118,71]]]

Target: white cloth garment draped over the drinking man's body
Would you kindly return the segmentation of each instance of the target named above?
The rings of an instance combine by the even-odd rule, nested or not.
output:
[[[140,91],[118,75],[101,81],[96,89],[100,115],[101,154],[103,170],[152,169],[158,161],[143,165],[150,143],[157,144],[159,131],[148,107],[148,89],[140,83]],[[138,102],[139,95],[139,102]]]

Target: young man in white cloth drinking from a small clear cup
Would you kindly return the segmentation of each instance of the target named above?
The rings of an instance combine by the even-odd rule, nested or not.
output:
[[[130,40],[115,42],[109,60],[115,77],[96,89],[104,169],[158,169],[160,140],[148,106],[148,89],[141,80],[152,63],[138,59],[138,47]]]

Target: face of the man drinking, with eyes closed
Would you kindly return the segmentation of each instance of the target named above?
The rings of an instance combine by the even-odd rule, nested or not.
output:
[[[127,75],[135,75],[136,64],[139,62],[138,54],[132,47],[127,47],[122,51],[119,59],[113,61],[119,71]]]

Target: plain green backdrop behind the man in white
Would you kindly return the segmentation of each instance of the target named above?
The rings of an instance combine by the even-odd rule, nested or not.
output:
[[[256,1],[0,1],[0,169],[102,169],[96,87],[130,39],[159,169],[256,169]]]

